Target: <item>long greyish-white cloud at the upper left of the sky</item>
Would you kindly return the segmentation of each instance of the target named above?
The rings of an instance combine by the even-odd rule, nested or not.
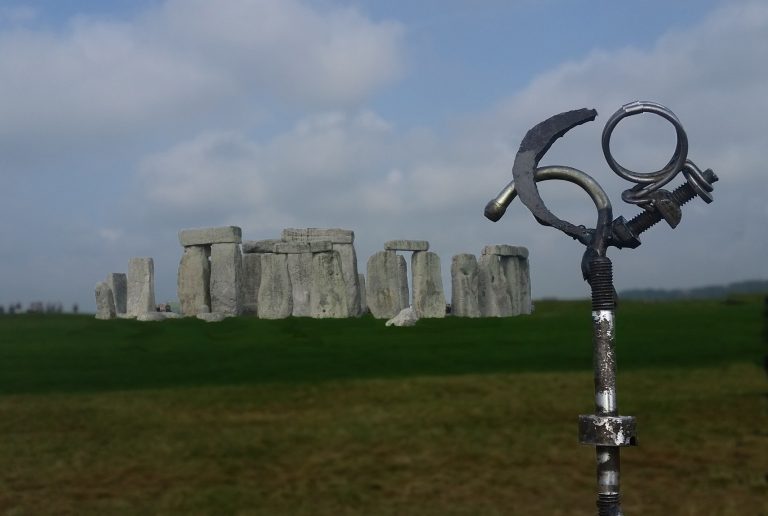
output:
[[[0,145],[203,128],[254,103],[357,105],[397,77],[401,32],[298,0],[168,0],[129,22],[0,29]]]

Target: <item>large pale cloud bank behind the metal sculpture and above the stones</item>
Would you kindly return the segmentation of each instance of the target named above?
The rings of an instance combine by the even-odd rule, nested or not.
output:
[[[242,175],[233,176],[237,181],[215,188],[202,177],[210,177],[214,170],[225,176],[226,167],[194,153],[187,155],[194,158],[191,162],[175,162],[171,157],[187,145],[182,144],[157,158],[168,168],[157,169],[159,180],[149,185],[148,192],[152,197],[166,182],[176,184],[175,174],[183,170],[183,188],[195,192],[177,192],[178,204],[173,206],[199,204],[201,196],[212,191],[215,202],[237,207],[230,213],[238,213],[246,234],[249,224],[272,231],[252,237],[274,236],[278,224],[286,221],[352,227],[358,232],[363,268],[366,257],[390,238],[430,240],[443,256],[444,272],[451,254],[457,252],[478,252],[489,242],[528,245],[538,295],[583,295],[578,244],[537,225],[520,204],[495,225],[482,218],[482,208],[511,179],[514,154],[528,128],[559,111],[596,107],[598,121],[558,141],[545,162],[576,166],[594,175],[613,199],[615,214],[633,215],[637,208],[620,200],[621,190],[630,185],[605,165],[600,133],[621,104],[656,100],[681,119],[689,135],[689,156],[703,168],[714,168],[722,181],[716,185],[715,204],[694,201],[685,207],[680,228],[654,228],[644,235],[640,249],[621,252],[619,287],[738,279],[734,274],[760,276],[764,274],[760,260],[750,257],[768,252],[766,239],[755,238],[762,231],[768,191],[768,176],[761,167],[768,146],[764,118],[768,100],[763,93],[768,71],[760,66],[765,48],[768,7],[729,6],[697,27],[660,39],[649,50],[596,51],[565,63],[489,112],[460,121],[440,138],[429,130],[402,132],[371,112],[309,115],[266,141],[238,136],[241,145],[258,151],[239,163]],[[664,122],[639,122],[622,122],[614,151],[658,168],[669,158],[674,142],[668,138],[673,133]],[[258,188],[249,186],[254,182]],[[243,191],[257,189],[258,203],[240,202],[245,200]],[[594,224],[594,209],[578,188],[547,184],[542,191],[559,216]],[[264,224],[267,213],[274,217],[271,225]]]

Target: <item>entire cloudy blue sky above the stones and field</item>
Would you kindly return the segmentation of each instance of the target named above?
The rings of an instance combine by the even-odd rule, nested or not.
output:
[[[768,278],[768,4],[679,0],[59,0],[0,2],[0,305],[95,308],[94,287],[134,256],[176,298],[184,228],[355,231],[358,267],[387,240],[451,257],[525,246],[534,298],[588,297],[583,247],[519,200],[520,140],[595,108],[541,165],[593,176],[614,215],[631,184],[600,137],[623,104],[670,108],[712,204],[609,251],[618,290]],[[612,151],[651,171],[675,147],[654,115],[623,120]],[[681,184],[682,177],[670,186]],[[560,218],[593,227],[571,184],[540,184]],[[449,295],[450,298],[450,295]]]

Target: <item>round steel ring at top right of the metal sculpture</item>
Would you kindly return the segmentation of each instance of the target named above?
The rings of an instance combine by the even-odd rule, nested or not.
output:
[[[653,113],[666,118],[675,127],[675,132],[677,133],[677,145],[675,146],[675,152],[672,155],[672,159],[669,160],[669,163],[667,163],[664,168],[655,172],[633,172],[632,170],[619,165],[611,155],[611,135],[613,134],[616,125],[622,119],[640,113]],[[688,157],[688,136],[685,134],[685,129],[683,129],[680,120],[677,119],[675,114],[661,104],[649,101],[630,102],[621,106],[621,108],[608,119],[608,122],[606,122],[605,128],[603,129],[603,154],[605,155],[605,159],[608,162],[608,166],[611,167],[611,170],[627,181],[638,184],[657,183],[649,189],[650,191],[653,191],[671,181],[683,168],[685,160]]]

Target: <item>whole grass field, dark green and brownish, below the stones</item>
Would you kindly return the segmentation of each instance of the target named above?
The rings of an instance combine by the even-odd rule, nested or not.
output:
[[[620,307],[628,515],[768,515],[763,310]],[[594,514],[589,312],[0,317],[0,511]]]

